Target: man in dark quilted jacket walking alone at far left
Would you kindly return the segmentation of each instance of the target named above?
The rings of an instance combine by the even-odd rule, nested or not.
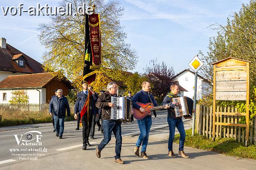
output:
[[[57,96],[53,97],[49,104],[49,113],[54,114],[54,123],[56,129],[56,137],[62,139],[64,131],[64,118],[66,116],[66,110],[68,117],[70,116],[70,107],[68,99],[62,96],[62,90],[57,90]],[[60,126],[57,124],[59,123]]]

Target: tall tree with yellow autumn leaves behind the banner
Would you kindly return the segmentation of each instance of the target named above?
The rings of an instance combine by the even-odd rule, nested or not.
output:
[[[126,81],[124,71],[133,70],[137,63],[137,53],[125,42],[126,33],[120,25],[124,8],[117,0],[62,0],[61,6],[72,3],[73,14],[78,6],[96,5],[95,13],[100,14],[102,38],[102,68],[94,83],[94,88],[106,87],[111,80]],[[50,23],[39,25],[39,38],[46,47],[43,56],[45,71],[60,72],[75,88],[80,88],[84,64],[84,16],[53,16]],[[106,69],[109,68],[109,69]],[[104,75],[108,77],[103,77]]]

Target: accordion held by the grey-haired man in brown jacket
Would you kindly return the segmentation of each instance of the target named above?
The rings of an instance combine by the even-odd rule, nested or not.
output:
[[[111,96],[111,103],[115,107],[111,107],[110,119],[119,121],[130,121],[132,102],[126,97]]]

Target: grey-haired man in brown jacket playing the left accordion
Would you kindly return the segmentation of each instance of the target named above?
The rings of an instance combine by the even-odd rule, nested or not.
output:
[[[110,120],[111,107],[115,105],[111,102],[111,96],[117,94],[118,87],[115,82],[108,83],[108,91],[100,95],[96,102],[96,107],[102,109],[102,119],[103,119],[103,129],[104,129],[104,139],[100,142],[100,145],[96,147],[96,155],[100,158],[100,152],[111,140],[112,132],[116,138],[116,156],[114,162],[119,164],[124,164],[124,161],[121,160],[121,147],[122,147],[122,136],[121,136],[121,122]]]

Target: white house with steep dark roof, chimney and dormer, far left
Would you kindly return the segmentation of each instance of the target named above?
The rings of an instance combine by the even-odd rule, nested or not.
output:
[[[42,64],[7,44],[5,38],[0,38],[0,81],[11,75],[42,72]]]

